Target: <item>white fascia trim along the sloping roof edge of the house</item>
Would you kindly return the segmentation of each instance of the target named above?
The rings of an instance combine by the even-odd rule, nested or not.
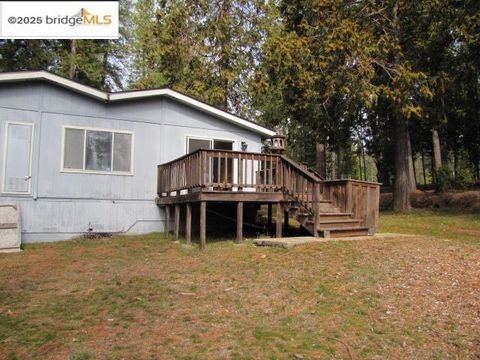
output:
[[[201,101],[195,100],[189,96],[180,94],[171,89],[151,89],[151,90],[138,90],[138,91],[124,91],[117,93],[107,93],[101,90],[94,89],[90,86],[82,85],[76,81],[65,79],[61,76],[54,75],[46,71],[21,71],[13,73],[0,73],[0,82],[10,81],[24,81],[24,80],[47,80],[52,83],[61,85],[71,90],[83,93],[85,95],[94,97],[104,102],[114,102],[121,100],[131,100],[154,96],[166,96],[175,99],[181,103],[189,105],[195,109],[206,112],[215,117],[222,118],[228,122],[234,123],[240,127],[249,129],[253,132],[259,133],[263,136],[273,136],[275,132],[267,129],[261,125],[252,123],[248,120],[242,119],[238,116],[230,114],[226,111],[217,109],[214,106],[205,104]]]

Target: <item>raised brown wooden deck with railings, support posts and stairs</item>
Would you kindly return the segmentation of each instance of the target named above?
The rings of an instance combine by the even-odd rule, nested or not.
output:
[[[226,150],[197,150],[158,166],[158,197],[170,232],[178,238],[181,207],[185,207],[185,235],[191,241],[192,206],[200,208],[200,243],[206,245],[207,203],[237,206],[237,241],[243,238],[243,204],[276,204],[276,236],[282,220],[295,216],[314,236],[373,234],[378,227],[379,184],[357,180],[325,181],[289,158]]]

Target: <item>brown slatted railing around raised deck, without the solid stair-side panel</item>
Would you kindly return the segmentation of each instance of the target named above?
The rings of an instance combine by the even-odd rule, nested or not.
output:
[[[312,210],[308,204],[318,197],[315,189],[320,181],[282,155],[201,149],[159,165],[157,192],[159,196],[166,196],[195,188],[284,191]]]

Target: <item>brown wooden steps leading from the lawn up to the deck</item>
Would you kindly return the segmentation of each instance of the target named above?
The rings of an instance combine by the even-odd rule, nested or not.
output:
[[[308,209],[307,209],[308,207]],[[288,211],[300,225],[313,236],[325,238],[351,237],[369,235],[369,228],[361,225],[361,220],[355,219],[352,213],[341,212],[332,205],[330,200],[319,200],[319,216],[317,234],[314,233],[314,215],[312,202],[292,203]]]

